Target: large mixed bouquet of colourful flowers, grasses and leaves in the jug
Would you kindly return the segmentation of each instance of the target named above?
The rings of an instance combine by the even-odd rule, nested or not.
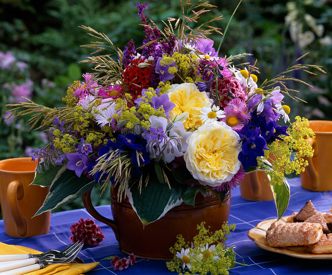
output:
[[[299,173],[303,156],[312,154],[303,139],[312,135],[307,121],[296,117],[289,124],[284,81],[292,70],[321,69],[293,65],[258,86],[256,64],[233,65],[246,54],[218,57],[222,53],[207,38],[212,31],[221,34],[218,29],[189,27],[209,7],[181,1],[182,16],[169,18],[161,30],[143,14],[147,3],[137,3],[146,38],[139,48],[129,41],[123,51],[82,26],[98,39],[85,46],[106,52],[84,60],[93,71],[68,88],[66,106],[11,105],[14,112],[25,108],[18,115],[33,114],[33,126],[41,121],[49,127],[50,144],[28,154],[39,160],[33,184],[50,185],[36,215],[110,183],[117,201],[127,198],[147,228],[174,207],[195,205],[197,194],[212,193],[223,202],[255,170],[267,173],[278,218],[283,215],[290,198],[284,172]],[[279,126],[281,119],[289,126]]]

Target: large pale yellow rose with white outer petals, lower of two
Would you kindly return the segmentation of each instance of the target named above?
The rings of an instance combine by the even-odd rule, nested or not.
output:
[[[203,185],[219,186],[240,169],[239,135],[221,122],[204,124],[188,138],[184,154],[189,172]]]

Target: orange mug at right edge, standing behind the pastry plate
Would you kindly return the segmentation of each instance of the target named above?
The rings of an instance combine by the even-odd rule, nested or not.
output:
[[[312,120],[309,127],[315,138],[307,138],[314,149],[313,157],[306,157],[308,166],[300,174],[301,187],[310,191],[332,190],[332,121]]]

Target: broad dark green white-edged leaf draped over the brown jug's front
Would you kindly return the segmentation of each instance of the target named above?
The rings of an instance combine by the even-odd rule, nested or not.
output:
[[[163,217],[170,209],[182,203],[182,187],[172,183],[171,189],[156,177],[149,179],[147,186],[139,193],[138,184],[127,190],[132,208],[137,213],[143,227]]]

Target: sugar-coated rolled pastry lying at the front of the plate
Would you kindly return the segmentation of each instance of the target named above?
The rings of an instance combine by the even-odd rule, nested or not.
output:
[[[271,247],[281,247],[313,244],[322,234],[322,226],[317,223],[273,223],[266,238]]]

